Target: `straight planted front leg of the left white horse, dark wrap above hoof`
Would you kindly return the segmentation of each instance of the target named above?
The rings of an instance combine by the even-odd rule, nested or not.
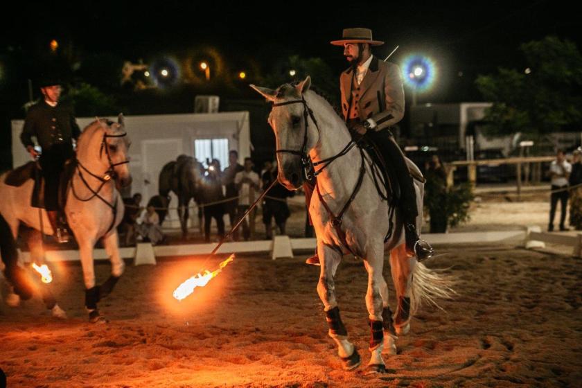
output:
[[[95,268],[93,263],[93,247],[95,238],[92,233],[75,233],[79,245],[79,255],[81,256],[81,266],[83,268],[83,281],[85,281],[85,308],[89,312],[91,323],[105,323],[105,318],[101,317],[97,310],[99,301],[99,288],[95,285]]]

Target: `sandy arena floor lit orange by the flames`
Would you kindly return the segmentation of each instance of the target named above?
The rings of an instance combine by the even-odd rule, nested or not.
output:
[[[445,311],[418,312],[384,375],[342,371],[319,271],[304,256],[240,256],[181,303],[171,292],[200,260],[128,265],[100,303],[106,325],[87,322],[80,265],[55,265],[53,289],[69,319],[49,317],[38,297],[19,308],[0,302],[0,368],[8,387],[580,387],[579,259],[500,246],[439,252],[449,254],[429,266],[449,268],[458,296],[441,301]],[[109,265],[96,273],[105,280]],[[346,258],[336,288],[363,364],[366,287],[362,263]]]

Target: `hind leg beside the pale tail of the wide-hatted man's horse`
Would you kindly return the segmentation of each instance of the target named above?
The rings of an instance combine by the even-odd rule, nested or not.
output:
[[[405,252],[405,245],[401,244],[390,253],[390,267],[392,280],[396,288],[398,307],[394,316],[394,328],[398,334],[406,334],[410,330],[410,292],[412,270],[416,258],[409,257]]]

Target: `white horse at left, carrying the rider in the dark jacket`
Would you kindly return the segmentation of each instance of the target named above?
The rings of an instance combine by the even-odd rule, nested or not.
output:
[[[79,245],[81,265],[85,280],[85,307],[89,321],[105,322],[98,309],[98,301],[112,291],[125,263],[119,256],[117,225],[123,218],[123,200],[116,182],[127,186],[131,182],[127,166],[130,142],[125,136],[123,115],[118,123],[97,119],[87,125],[77,142],[75,171],[67,187],[64,214]],[[0,177],[0,248],[6,264],[6,277],[21,294],[30,297],[23,272],[16,265],[15,239],[20,222],[29,227],[52,234],[53,229],[46,211],[42,220],[38,209],[30,206],[34,182],[29,179],[21,186],[8,186],[6,174]],[[95,282],[93,248],[99,238],[112,264],[109,279],[100,286]],[[37,248],[37,247],[36,247]],[[12,304],[15,296],[12,295]],[[56,305],[58,307],[58,305]]]

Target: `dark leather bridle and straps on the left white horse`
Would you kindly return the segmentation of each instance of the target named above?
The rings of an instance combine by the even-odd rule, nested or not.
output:
[[[100,123],[100,121],[99,121],[99,123]],[[105,127],[103,127],[103,130],[104,130],[104,133],[103,133],[103,139],[101,139],[99,157],[103,157],[103,149],[105,149],[105,155],[107,155],[107,163],[109,163],[109,168],[107,168],[107,171],[105,171],[105,174],[103,174],[103,177],[101,177],[95,173],[92,173],[87,167],[85,167],[81,164],[79,159],[75,158],[76,170],[77,170],[77,173],[81,179],[81,182],[83,182],[85,187],[88,188],[89,191],[91,191],[92,195],[88,198],[80,198],[75,191],[75,186],[73,186],[73,179],[71,179],[70,185],[71,185],[71,191],[73,191],[73,195],[75,196],[75,198],[77,200],[79,200],[81,202],[87,202],[87,201],[90,201],[93,198],[97,197],[99,200],[101,200],[101,202],[103,202],[107,206],[109,206],[109,209],[112,209],[113,219],[112,219],[111,224],[109,225],[109,228],[107,229],[107,232],[105,232],[105,234],[107,234],[107,233],[109,233],[109,231],[111,231],[111,229],[113,229],[114,224],[115,224],[115,218],[116,218],[116,214],[117,214],[117,198],[114,197],[113,203],[111,204],[111,203],[109,203],[109,201],[107,201],[105,198],[103,198],[103,196],[100,195],[99,193],[100,193],[101,189],[103,189],[105,184],[107,184],[107,182],[110,182],[112,178],[117,177],[117,173],[115,172],[116,166],[121,166],[122,164],[127,164],[130,161],[129,161],[129,159],[125,159],[124,161],[114,163],[112,158],[111,158],[111,154],[109,153],[109,147],[108,147],[109,144],[107,143],[107,139],[109,139],[110,137],[111,138],[124,137],[124,136],[127,136],[127,132],[123,132],[122,134],[108,134]],[[89,185],[89,182],[87,182],[87,179],[85,179],[85,176],[83,176],[82,170],[85,170],[85,172],[87,172],[89,175],[91,175],[91,177],[98,179],[100,184],[96,190],[94,188],[91,188],[91,186]]]

